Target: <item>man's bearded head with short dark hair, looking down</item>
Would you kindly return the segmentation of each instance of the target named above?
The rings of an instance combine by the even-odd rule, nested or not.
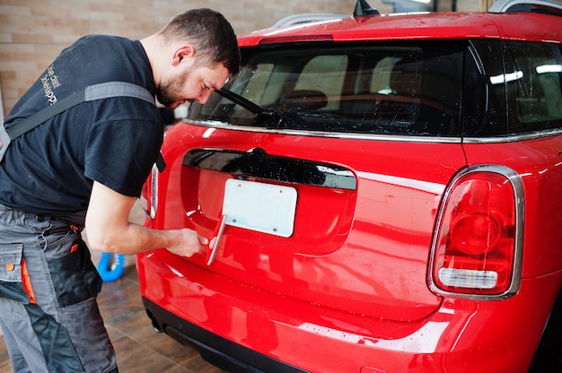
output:
[[[178,14],[154,35],[158,48],[144,41],[151,60],[157,99],[168,108],[185,101],[205,102],[238,74],[240,50],[231,24],[221,13],[193,9]]]

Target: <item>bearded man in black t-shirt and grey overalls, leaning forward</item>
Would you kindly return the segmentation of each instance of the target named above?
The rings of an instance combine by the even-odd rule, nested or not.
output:
[[[84,87],[129,82],[168,108],[205,102],[237,74],[230,23],[209,9],[176,16],[141,40],[89,36],[66,48],[5,118],[5,127]],[[192,256],[193,230],[128,221],[159,155],[162,119],[135,97],[83,102],[16,138],[0,163],[0,325],[14,372],[117,372],[96,295],[92,249],[165,247]]]

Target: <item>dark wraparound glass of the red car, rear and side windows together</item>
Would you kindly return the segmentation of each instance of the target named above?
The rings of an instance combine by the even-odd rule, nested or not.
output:
[[[235,126],[411,136],[489,137],[562,128],[556,43],[472,39],[287,44],[242,49],[228,89],[189,118]],[[461,110],[462,108],[462,110]]]

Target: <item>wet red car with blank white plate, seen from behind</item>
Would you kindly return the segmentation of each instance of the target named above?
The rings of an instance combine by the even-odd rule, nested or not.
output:
[[[137,256],[154,327],[247,372],[559,372],[562,4],[259,30],[191,106]]]

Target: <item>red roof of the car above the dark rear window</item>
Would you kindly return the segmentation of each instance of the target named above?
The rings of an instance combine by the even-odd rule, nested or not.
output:
[[[293,41],[520,39],[562,42],[562,19],[540,13],[396,13],[258,30],[241,47]]]

